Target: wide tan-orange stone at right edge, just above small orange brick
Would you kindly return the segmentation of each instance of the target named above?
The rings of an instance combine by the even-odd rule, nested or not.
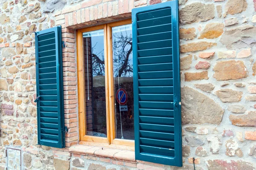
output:
[[[249,111],[242,115],[230,115],[229,119],[235,126],[254,126],[256,127],[256,111]]]

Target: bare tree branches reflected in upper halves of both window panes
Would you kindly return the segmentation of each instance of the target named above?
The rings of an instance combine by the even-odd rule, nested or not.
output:
[[[122,32],[120,35],[113,35],[115,37],[113,38],[113,64],[116,77],[133,76],[133,65],[129,62],[129,56],[132,53],[132,35],[125,33],[125,35]],[[92,48],[93,76],[102,76],[105,75],[104,50],[94,54],[95,46]]]

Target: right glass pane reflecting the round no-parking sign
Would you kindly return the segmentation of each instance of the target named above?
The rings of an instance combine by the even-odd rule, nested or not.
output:
[[[116,138],[134,140],[131,24],[112,28]]]

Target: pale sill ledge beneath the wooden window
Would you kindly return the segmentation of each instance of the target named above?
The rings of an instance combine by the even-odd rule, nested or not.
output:
[[[93,146],[94,145],[94,146]],[[90,155],[96,157],[109,158],[118,161],[128,161],[135,163],[135,153],[134,151],[121,149],[122,146],[115,147],[113,144],[111,147],[106,147],[106,145],[101,144],[102,146],[93,145],[85,145],[85,144],[77,144],[72,147],[69,147],[69,151],[71,153],[81,154],[81,155]]]

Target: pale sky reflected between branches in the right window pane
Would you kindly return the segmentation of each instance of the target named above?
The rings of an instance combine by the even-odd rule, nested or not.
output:
[[[116,41],[119,41],[117,40],[117,37],[120,37],[121,34],[125,37],[125,36],[128,36],[130,37],[132,35],[132,29],[131,29],[131,24],[128,24],[128,25],[124,25],[124,26],[117,26],[117,27],[113,27],[112,28],[112,39],[113,39],[113,42],[116,40]],[[120,45],[120,44],[119,44]],[[131,48],[131,45],[126,45],[125,46],[125,51],[128,51],[129,49]],[[115,54],[118,54],[119,51],[122,51],[122,47],[118,47],[118,49],[116,49],[116,47],[113,47],[113,59],[117,59],[117,56]],[[126,54],[125,54],[126,56]],[[133,61],[132,61],[132,52],[131,54],[129,55],[129,59],[128,59],[128,62],[129,64],[128,65],[133,65]],[[116,68],[121,68],[122,67],[122,63],[120,63],[120,60],[119,62],[113,62],[113,75],[114,77],[116,77],[117,74],[117,70]],[[122,77],[124,77],[122,75]],[[130,75],[126,75],[125,77],[133,77],[132,74],[130,73]]]

